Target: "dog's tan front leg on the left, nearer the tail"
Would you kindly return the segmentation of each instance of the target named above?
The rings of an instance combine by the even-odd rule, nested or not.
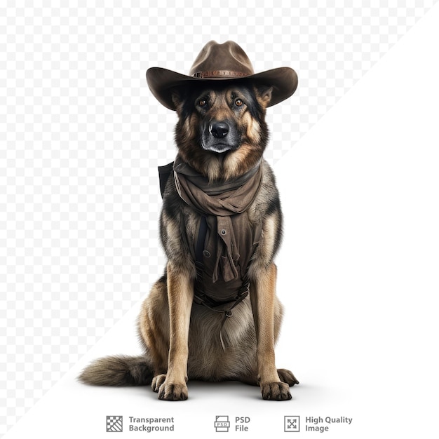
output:
[[[158,389],[158,398],[171,401],[186,400],[189,321],[194,287],[189,273],[172,262],[168,262],[167,274],[170,346],[168,372]]]

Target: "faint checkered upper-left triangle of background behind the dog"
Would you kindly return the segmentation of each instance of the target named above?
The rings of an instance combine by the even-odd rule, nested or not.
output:
[[[275,163],[436,2],[325,3],[1,4],[0,434],[163,270],[156,167],[174,158],[175,114],[148,67],[187,73],[232,39],[256,72],[296,69],[269,109]]]

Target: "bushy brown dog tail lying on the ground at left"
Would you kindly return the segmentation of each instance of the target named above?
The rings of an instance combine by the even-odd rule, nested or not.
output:
[[[78,379],[95,386],[147,386],[153,374],[147,356],[109,356],[93,361]]]

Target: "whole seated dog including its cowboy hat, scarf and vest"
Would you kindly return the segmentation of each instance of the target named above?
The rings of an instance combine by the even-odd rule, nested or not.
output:
[[[254,74],[236,43],[211,41],[190,76],[147,72],[153,94],[178,118],[177,157],[160,168],[166,269],[138,318],[144,354],[97,359],[83,383],[151,384],[160,400],[186,400],[188,380],[236,380],[260,386],[265,400],[291,398],[299,381],[276,368],[274,353],[281,202],[263,158],[266,108],[297,87],[295,72],[281,69]]]

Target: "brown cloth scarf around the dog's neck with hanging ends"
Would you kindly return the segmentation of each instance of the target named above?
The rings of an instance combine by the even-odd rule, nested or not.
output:
[[[241,177],[227,182],[210,183],[207,177],[184,163],[177,156],[174,163],[174,179],[180,197],[201,215],[208,218],[211,229],[216,228],[217,254],[212,282],[219,279],[229,282],[239,278],[236,262],[239,249],[236,236],[239,228],[231,217],[245,212],[255,200],[262,184],[262,162]],[[235,227],[234,227],[235,224]]]

